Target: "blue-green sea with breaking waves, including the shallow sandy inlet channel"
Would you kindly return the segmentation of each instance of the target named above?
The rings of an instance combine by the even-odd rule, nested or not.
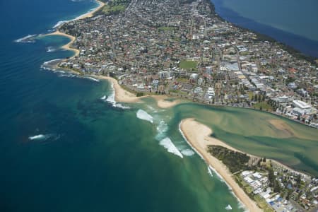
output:
[[[193,103],[163,110],[151,98],[114,104],[107,81],[41,68],[73,54],[59,49],[68,38],[15,42],[95,6],[0,1],[0,211],[245,211],[184,141],[186,117],[235,148],[317,175],[315,129],[283,119],[298,136],[285,139],[268,122],[281,118],[265,112]]]

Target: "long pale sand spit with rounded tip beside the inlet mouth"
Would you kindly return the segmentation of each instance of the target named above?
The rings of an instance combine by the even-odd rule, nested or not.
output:
[[[232,188],[232,191],[235,193],[238,199],[242,201],[243,204],[247,207],[249,211],[262,211],[257,204],[252,201],[252,199],[245,194],[243,189],[235,182],[235,179],[232,178],[228,167],[226,167],[220,160],[214,158],[210,153],[206,151],[207,145],[219,145],[229,148],[233,151],[237,151],[235,148],[228,146],[226,143],[218,139],[213,139],[210,135],[212,130],[196,122],[194,119],[184,119],[180,124],[182,133],[187,138],[189,144],[195,148],[195,150],[204,158],[208,165],[211,165],[217,172],[220,174],[225,182]]]

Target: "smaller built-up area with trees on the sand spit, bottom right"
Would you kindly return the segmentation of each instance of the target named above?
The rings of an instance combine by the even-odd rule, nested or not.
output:
[[[208,146],[208,152],[228,167],[237,184],[264,211],[317,210],[317,178],[223,146]]]

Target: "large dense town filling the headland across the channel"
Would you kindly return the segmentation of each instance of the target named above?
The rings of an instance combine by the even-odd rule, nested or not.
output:
[[[59,30],[78,56],[59,66],[117,76],[139,93],[250,107],[318,128],[317,66],[222,20],[206,0],[119,1]]]

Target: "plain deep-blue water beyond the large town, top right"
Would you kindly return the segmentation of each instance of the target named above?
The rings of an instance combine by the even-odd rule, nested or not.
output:
[[[318,1],[211,0],[225,20],[318,58]],[[269,15],[270,14],[270,15]]]

